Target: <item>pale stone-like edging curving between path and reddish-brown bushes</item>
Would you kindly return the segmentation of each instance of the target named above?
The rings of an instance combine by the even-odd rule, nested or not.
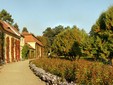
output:
[[[36,65],[32,64],[32,62],[30,62],[29,67],[36,76],[38,76],[41,80],[46,82],[46,85],[76,85],[73,82],[68,83],[66,80],[62,81],[62,78],[48,73],[42,68],[36,67]]]

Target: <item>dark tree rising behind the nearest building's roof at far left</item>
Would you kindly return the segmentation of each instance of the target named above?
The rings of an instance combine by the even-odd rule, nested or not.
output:
[[[6,22],[8,22],[11,25],[13,24],[12,15],[10,15],[10,13],[8,13],[5,9],[3,9],[0,12],[0,20],[6,21]]]

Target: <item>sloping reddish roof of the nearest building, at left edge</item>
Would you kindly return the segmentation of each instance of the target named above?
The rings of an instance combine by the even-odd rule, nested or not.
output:
[[[21,36],[19,31],[15,27],[13,27],[10,24],[8,24],[7,22],[0,20],[0,25],[2,25],[3,30],[5,30],[5,31],[7,31],[7,32],[9,32],[11,34],[14,34],[16,36],[19,36],[19,37]]]

